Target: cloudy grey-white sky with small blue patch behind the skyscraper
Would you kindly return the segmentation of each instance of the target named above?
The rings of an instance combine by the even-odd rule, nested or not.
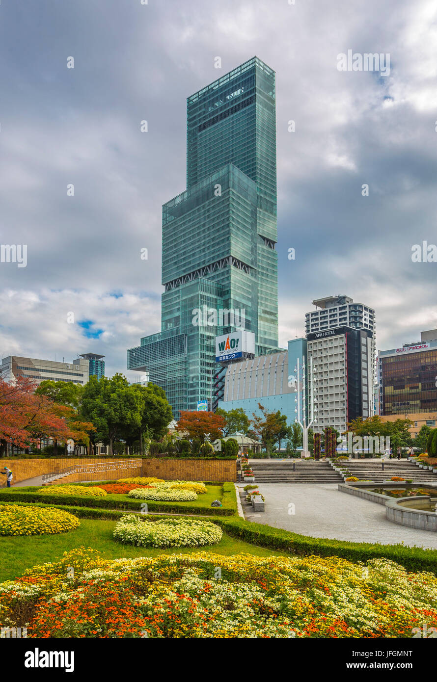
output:
[[[349,49],[389,75],[339,71]],[[186,97],[253,55],[277,73],[280,344],[337,293],[376,309],[380,349],[437,327],[437,263],[411,258],[437,244],[435,0],[1,0],[0,244],[27,267],[0,263],[0,357],[93,351],[135,379]]]

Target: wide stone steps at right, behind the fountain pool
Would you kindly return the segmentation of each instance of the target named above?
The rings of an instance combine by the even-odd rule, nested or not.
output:
[[[417,464],[409,460],[349,460],[345,461],[352,476],[360,479],[370,479],[375,483],[382,483],[392,476],[400,476],[404,479],[412,479],[414,483],[437,483],[437,474],[429,469],[419,469]]]

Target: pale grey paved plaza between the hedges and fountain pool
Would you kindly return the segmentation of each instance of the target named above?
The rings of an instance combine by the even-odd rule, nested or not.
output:
[[[269,483],[258,489],[266,511],[246,514],[248,521],[313,537],[437,549],[437,533],[387,521],[384,506],[340,492],[337,484]]]

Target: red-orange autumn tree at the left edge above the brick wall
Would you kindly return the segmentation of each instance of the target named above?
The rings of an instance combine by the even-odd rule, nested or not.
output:
[[[57,404],[34,392],[31,379],[18,376],[14,383],[0,379],[0,456],[8,444],[23,449],[37,445],[40,439],[68,439],[87,442],[93,424],[78,421],[71,407]]]

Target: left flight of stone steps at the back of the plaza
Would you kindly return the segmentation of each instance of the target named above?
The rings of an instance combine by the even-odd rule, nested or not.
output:
[[[249,460],[257,483],[343,483],[329,462]],[[238,472],[238,481],[242,477]]]

